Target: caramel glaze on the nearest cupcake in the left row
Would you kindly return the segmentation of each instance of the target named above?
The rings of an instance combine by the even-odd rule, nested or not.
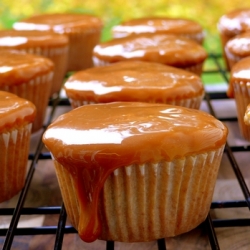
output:
[[[0,91],[0,133],[20,124],[32,123],[36,116],[33,103],[9,92]]]

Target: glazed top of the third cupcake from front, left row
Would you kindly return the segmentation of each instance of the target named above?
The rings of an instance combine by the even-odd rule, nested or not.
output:
[[[52,31],[0,30],[0,49],[53,48],[68,45],[68,37]]]

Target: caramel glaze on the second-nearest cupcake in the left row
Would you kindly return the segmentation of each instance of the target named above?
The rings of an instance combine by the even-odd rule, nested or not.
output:
[[[18,85],[53,71],[54,63],[45,57],[14,50],[1,51],[0,88]]]

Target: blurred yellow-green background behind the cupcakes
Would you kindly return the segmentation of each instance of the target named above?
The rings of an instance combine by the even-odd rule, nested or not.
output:
[[[0,28],[11,28],[22,18],[51,12],[91,13],[102,18],[102,40],[108,40],[110,28],[123,20],[142,16],[185,17],[198,21],[205,29],[205,47],[220,51],[217,22],[232,9],[249,7],[247,1],[230,0],[0,0]]]

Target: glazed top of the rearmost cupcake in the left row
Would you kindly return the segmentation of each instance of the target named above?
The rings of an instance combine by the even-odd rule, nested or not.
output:
[[[14,23],[16,30],[53,30],[70,33],[74,29],[93,29],[103,26],[100,18],[88,14],[53,13],[41,14]]]

